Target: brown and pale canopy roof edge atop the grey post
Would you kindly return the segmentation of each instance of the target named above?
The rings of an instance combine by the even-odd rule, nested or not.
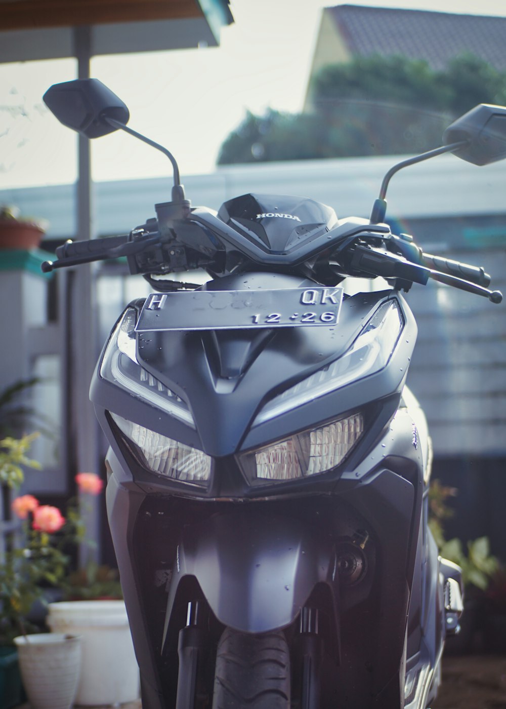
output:
[[[90,26],[91,55],[215,46],[228,0],[0,0],[0,62],[72,57]]]

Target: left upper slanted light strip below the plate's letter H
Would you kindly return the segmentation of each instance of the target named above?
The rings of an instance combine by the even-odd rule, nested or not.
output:
[[[130,396],[136,396],[195,428],[186,403],[137,362],[135,320],[135,309],[127,308],[106,347],[100,376],[128,391]]]

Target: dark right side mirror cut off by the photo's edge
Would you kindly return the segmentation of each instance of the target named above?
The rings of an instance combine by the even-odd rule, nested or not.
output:
[[[486,165],[506,157],[506,108],[479,104],[449,125],[444,145],[467,140],[454,155],[475,165]]]

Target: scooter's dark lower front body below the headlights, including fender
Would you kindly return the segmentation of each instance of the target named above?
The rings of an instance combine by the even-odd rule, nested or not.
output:
[[[129,482],[125,463],[109,452],[108,515],[146,709],[175,705],[179,631],[196,599],[208,608],[206,663],[225,625],[283,627],[293,639],[301,608],[313,606],[335,705],[400,708],[403,655],[409,650],[411,666],[421,658],[434,664],[441,631],[437,618],[423,618],[434,594],[427,586],[415,593],[405,642],[411,588],[426,583],[427,559],[417,557],[423,461],[410,417],[395,421],[395,440],[390,432],[380,438],[373,462],[345,473],[332,495],[184,499]],[[364,573],[349,584],[342,560],[359,543]]]

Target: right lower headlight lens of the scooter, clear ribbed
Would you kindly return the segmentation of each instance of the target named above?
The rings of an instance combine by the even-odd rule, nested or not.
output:
[[[342,463],[363,432],[364,417],[355,413],[321,428],[240,454],[238,459],[250,484],[319,475]]]

